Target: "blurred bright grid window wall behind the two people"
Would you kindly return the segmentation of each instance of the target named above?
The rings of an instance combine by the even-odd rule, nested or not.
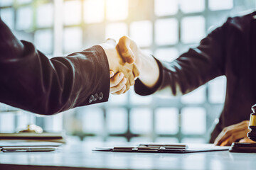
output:
[[[49,58],[129,35],[146,52],[169,62],[228,16],[255,7],[256,0],[0,0],[3,21]],[[17,132],[32,123],[76,140],[205,143],[223,108],[225,81],[218,77],[176,98],[138,96],[131,89],[107,103],[51,116],[0,104],[0,132]]]

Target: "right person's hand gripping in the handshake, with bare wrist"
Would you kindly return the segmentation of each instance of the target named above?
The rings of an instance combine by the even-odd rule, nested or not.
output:
[[[124,62],[134,64],[134,66],[139,69],[139,79],[142,83],[145,86],[152,88],[159,79],[159,67],[156,60],[154,60],[154,57],[142,52],[136,42],[127,36],[120,38],[117,44],[117,49]],[[113,77],[112,81],[117,80]]]

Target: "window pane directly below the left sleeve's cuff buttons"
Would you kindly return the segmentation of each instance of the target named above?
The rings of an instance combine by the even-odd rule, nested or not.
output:
[[[82,129],[85,132],[95,134],[103,132],[104,118],[101,108],[88,109],[82,116]]]

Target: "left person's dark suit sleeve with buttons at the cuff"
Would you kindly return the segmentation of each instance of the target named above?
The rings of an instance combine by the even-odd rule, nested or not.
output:
[[[43,115],[107,101],[110,68],[100,46],[48,59],[0,18],[0,102]]]

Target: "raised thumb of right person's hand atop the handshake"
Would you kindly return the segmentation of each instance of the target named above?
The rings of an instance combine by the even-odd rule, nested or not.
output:
[[[123,36],[122,38],[120,38],[117,44],[119,53],[122,56],[124,62],[128,62],[129,64],[135,62],[134,53],[132,52],[132,49],[130,47],[131,43],[131,39],[129,39],[127,36]]]

